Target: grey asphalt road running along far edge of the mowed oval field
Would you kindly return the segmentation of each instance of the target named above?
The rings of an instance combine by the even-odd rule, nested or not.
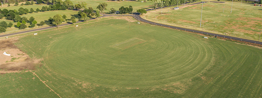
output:
[[[160,8],[156,8],[156,9],[160,9]],[[155,9],[150,9],[150,10],[155,10]],[[149,10],[146,10],[146,11],[149,11]],[[142,21],[142,22],[149,23],[149,24],[152,24],[152,25],[163,26],[163,27],[179,29],[179,30],[185,30],[185,31],[190,31],[190,32],[196,32],[196,33],[212,35],[212,36],[216,36],[216,37],[224,37],[224,38],[228,38],[228,39],[235,39],[235,40],[239,40],[239,41],[246,41],[246,42],[256,43],[256,44],[262,45],[262,42],[260,42],[260,41],[253,41],[253,40],[242,39],[242,38],[238,38],[238,37],[231,37],[231,36],[219,35],[219,34],[203,32],[203,31],[198,31],[198,30],[192,30],[192,29],[187,29],[187,28],[180,28],[180,27],[169,26],[169,25],[165,25],[165,24],[161,24],[161,23],[154,23],[152,21],[148,21],[148,20],[141,18],[140,13],[134,13],[132,15],[112,15],[112,14],[102,14],[102,15],[103,15],[102,17],[107,17],[107,16],[132,16],[135,19],[137,19],[138,21]],[[95,18],[92,18],[90,20],[93,20],[93,19],[95,19]],[[79,22],[83,22],[83,21],[77,21],[76,23],[79,23]],[[70,24],[72,24],[72,23],[61,24],[60,26],[65,26],[65,25],[70,25]],[[26,30],[26,31],[22,31],[22,32],[15,32],[15,33],[10,33],[10,34],[6,34],[6,35],[0,35],[0,37],[6,37],[6,36],[10,36],[10,35],[16,35],[16,34],[21,34],[21,33],[25,33],[25,32],[33,32],[33,31],[44,30],[44,29],[49,29],[49,28],[56,28],[56,26],[49,26],[49,27],[38,28],[38,29],[33,29],[33,30]]]

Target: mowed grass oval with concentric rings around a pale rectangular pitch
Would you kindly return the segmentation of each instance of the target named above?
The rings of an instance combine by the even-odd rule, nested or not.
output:
[[[74,30],[54,40],[44,61],[61,75],[127,87],[191,79],[212,62],[213,50],[202,41],[205,39],[162,27],[144,31],[141,30],[145,26],[132,28],[135,29],[126,31],[98,26]]]

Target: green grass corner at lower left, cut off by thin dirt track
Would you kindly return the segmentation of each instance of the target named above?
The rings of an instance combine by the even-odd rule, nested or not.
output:
[[[31,72],[1,74],[1,98],[14,97],[49,97],[57,95],[49,91],[41,81]]]

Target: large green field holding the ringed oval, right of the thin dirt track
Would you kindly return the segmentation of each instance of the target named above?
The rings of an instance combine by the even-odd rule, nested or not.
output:
[[[37,31],[16,45],[43,59],[35,73],[61,97],[262,96],[261,48],[131,17],[101,20]]]

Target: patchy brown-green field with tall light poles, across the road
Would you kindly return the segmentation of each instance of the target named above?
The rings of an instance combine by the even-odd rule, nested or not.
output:
[[[259,39],[259,31],[262,30],[261,6],[253,6],[251,3],[242,3],[242,6],[240,6],[241,3],[233,2],[232,14],[230,14],[231,4],[232,2],[204,3],[202,14],[204,28],[202,28],[203,23],[200,28],[202,4],[184,9],[180,8],[178,11],[171,9],[172,7],[166,8],[163,9],[163,15],[161,15],[161,10],[152,10],[142,15],[142,17],[157,23],[195,30],[203,29],[206,32],[222,35],[226,33],[230,36],[257,41]]]

